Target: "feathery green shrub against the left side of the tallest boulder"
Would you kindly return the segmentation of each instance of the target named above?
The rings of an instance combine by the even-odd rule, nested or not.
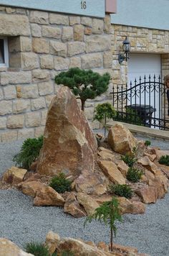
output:
[[[26,139],[21,146],[21,151],[13,157],[13,161],[21,168],[29,169],[31,164],[39,157],[43,145],[43,136]]]

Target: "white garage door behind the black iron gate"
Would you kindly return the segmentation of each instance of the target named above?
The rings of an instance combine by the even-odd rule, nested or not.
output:
[[[144,77],[146,77],[146,81],[149,81],[149,76],[151,76],[151,81],[153,81],[153,77],[156,77],[158,81],[158,77],[161,77],[161,60],[160,55],[155,54],[130,54],[130,59],[128,60],[128,88],[130,88],[130,81],[132,81],[132,86],[135,86],[135,79],[137,80],[137,84],[140,83],[139,79],[142,78],[142,82],[144,82]],[[139,87],[137,88],[139,89]],[[148,90],[149,91],[149,90]],[[158,117],[159,113],[159,96],[158,93],[151,93],[150,98],[148,92],[141,93],[141,97],[138,96],[136,98],[136,104],[146,104],[151,105],[156,108],[155,116]],[[141,99],[140,99],[141,98]],[[128,104],[134,104],[132,102],[128,102]]]

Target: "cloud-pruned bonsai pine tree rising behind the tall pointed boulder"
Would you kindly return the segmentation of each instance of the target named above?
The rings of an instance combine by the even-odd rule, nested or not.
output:
[[[81,100],[82,110],[87,99],[95,99],[107,91],[110,83],[110,74],[100,75],[92,70],[70,68],[67,72],[61,72],[55,77],[57,84],[68,86],[72,93]]]

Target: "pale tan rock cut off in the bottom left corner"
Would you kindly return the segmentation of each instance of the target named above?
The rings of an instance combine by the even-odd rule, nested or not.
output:
[[[0,238],[0,256],[34,256],[21,250],[14,242]]]

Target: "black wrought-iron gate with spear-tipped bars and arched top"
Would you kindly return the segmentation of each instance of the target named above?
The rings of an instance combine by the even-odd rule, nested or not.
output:
[[[160,76],[140,77],[112,88],[112,105],[117,111],[115,120],[151,128],[169,129],[167,90]]]

